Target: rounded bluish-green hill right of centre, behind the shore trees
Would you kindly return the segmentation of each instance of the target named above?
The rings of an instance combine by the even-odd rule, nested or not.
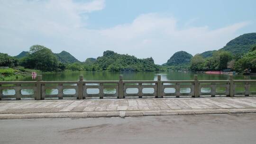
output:
[[[163,64],[166,66],[172,66],[172,65],[183,65],[188,64],[190,62],[190,59],[193,56],[185,51],[179,51],[176,52],[168,61],[167,63]]]

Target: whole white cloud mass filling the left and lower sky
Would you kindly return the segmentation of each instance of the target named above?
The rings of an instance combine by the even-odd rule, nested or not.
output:
[[[40,44],[55,53],[66,50],[81,61],[113,50],[139,58],[152,56],[155,63],[162,64],[177,51],[196,54],[219,49],[248,25],[241,22],[214,30],[207,26],[178,29],[175,18],[148,13],[103,30],[86,28],[84,16],[104,7],[103,0],[0,0],[0,51],[16,55]]]

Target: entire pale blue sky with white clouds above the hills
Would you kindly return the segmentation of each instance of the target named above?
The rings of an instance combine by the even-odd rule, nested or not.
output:
[[[165,63],[256,32],[256,0],[0,0],[0,52],[31,45],[80,61],[105,50]]]

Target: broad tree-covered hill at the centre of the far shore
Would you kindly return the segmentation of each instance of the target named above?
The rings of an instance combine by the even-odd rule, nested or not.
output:
[[[117,54],[113,51],[105,51],[93,63],[98,71],[157,71],[153,58],[138,59],[128,54]]]

